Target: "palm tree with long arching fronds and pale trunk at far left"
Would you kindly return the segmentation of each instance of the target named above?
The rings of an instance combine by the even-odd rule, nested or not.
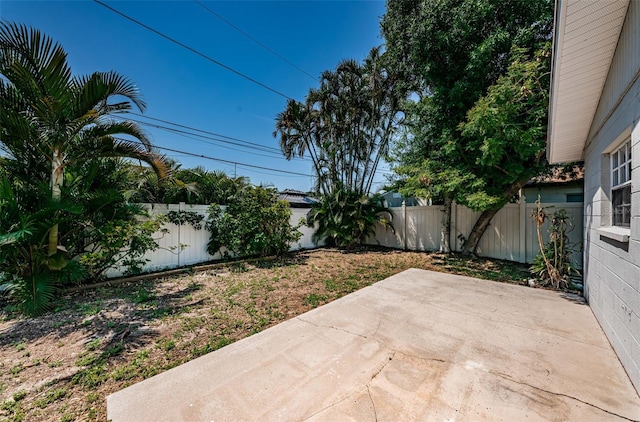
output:
[[[26,172],[48,173],[53,201],[61,199],[65,167],[80,160],[130,157],[165,177],[164,160],[142,129],[109,119],[134,106],[145,109],[127,78],[113,71],[73,76],[62,46],[36,29],[6,21],[0,22],[0,74],[0,148]],[[58,242],[54,224],[49,256],[58,251]]]

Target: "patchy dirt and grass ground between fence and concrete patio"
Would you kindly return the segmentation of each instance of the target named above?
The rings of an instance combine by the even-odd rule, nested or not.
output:
[[[0,420],[105,420],[107,395],[408,268],[528,276],[504,261],[321,249],[68,294],[38,318],[0,302]]]

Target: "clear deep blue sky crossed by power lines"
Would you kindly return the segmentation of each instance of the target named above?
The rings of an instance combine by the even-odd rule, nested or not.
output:
[[[120,12],[297,100],[313,79],[212,15],[195,1],[104,1]],[[383,1],[203,1],[227,21],[317,76],[345,58],[362,60],[383,43]],[[274,119],[286,99],[93,1],[0,1],[0,17],[40,29],[63,45],[77,74],[116,70],[140,88],[145,115],[224,135],[242,145],[145,126],[159,147],[311,175],[308,161],[276,151]],[[146,118],[136,119],[164,126]],[[246,141],[255,145],[246,147]],[[233,148],[233,149],[232,149]],[[201,165],[253,183],[308,190],[310,176],[282,174],[163,151],[184,168]],[[382,182],[379,174],[376,181]],[[378,184],[377,187],[381,185]],[[375,187],[374,187],[375,188]]]

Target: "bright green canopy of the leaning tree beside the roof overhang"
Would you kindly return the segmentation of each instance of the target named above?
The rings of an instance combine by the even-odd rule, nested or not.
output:
[[[459,203],[476,211],[501,208],[518,189],[543,171],[549,103],[551,44],[530,56],[515,49],[507,73],[489,87],[460,125],[475,161]]]

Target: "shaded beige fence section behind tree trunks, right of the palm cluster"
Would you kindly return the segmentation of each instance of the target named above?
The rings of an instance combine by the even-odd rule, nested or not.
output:
[[[576,244],[573,259],[582,267],[583,204],[549,203],[550,212],[565,209],[572,223],[569,240]],[[478,255],[516,262],[531,262],[540,251],[537,227],[531,215],[536,204],[521,201],[508,204],[491,220],[478,245]],[[391,208],[394,231],[376,228],[375,236],[367,243],[412,251],[437,251],[441,242],[443,206]],[[451,213],[451,249],[462,250],[462,239],[468,236],[480,213],[453,205]],[[544,239],[548,239],[547,221],[543,227]]]

